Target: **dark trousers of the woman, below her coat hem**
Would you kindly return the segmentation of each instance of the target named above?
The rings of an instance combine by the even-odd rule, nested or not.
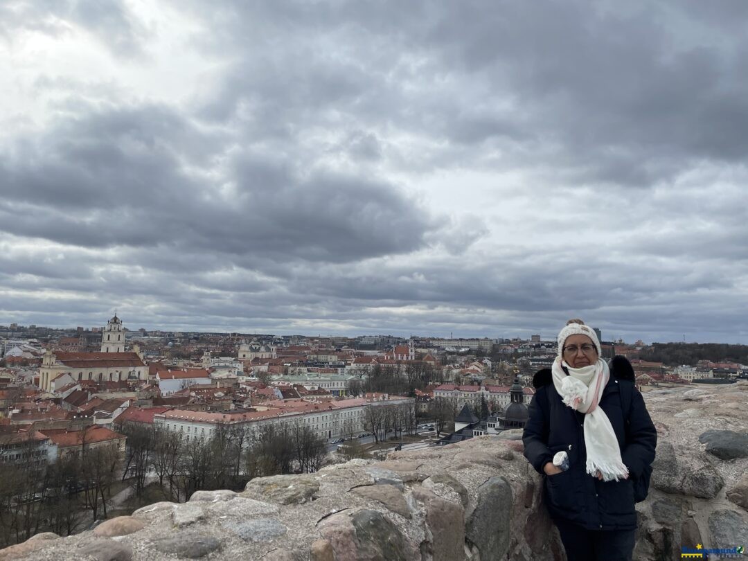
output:
[[[570,522],[554,522],[568,561],[631,561],[637,530],[586,530]]]

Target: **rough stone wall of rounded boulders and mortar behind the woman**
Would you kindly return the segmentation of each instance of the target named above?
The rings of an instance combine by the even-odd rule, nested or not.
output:
[[[660,444],[635,559],[748,545],[748,384],[646,401]],[[0,560],[562,560],[542,479],[519,433],[502,436],[199,491],[76,536],[34,536]]]

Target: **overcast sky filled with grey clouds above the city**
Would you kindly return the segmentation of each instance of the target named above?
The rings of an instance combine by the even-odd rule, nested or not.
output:
[[[0,325],[747,343],[747,20],[3,0]]]

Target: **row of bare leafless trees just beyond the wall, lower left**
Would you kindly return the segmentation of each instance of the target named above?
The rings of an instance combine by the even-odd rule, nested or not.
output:
[[[79,453],[47,462],[34,441],[13,450],[22,459],[0,464],[0,548],[39,532],[67,536],[108,515],[117,482],[128,480],[136,497],[158,481],[165,500],[188,500],[194,491],[243,490],[249,479],[313,472],[325,462],[324,438],[303,423],[216,426],[212,438],[187,438],[161,426],[126,423],[124,457],[117,445],[82,441]],[[121,486],[121,485],[120,485]]]

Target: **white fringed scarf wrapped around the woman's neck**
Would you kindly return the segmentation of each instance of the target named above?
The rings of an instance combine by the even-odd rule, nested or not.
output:
[[[568,369],[568,375],[563,371]],[[592,476],[598,471],[604,481],[628,478],[628,468],[621,459],[621,449],[616,433],[605,411],[598,407],[603,390],[610,380],[607,363],[600,358],[595,364],[583,368],[571,368],[556,358],[551,369],[554,387],[562,401],[584,413],[584,445],[587,449],[586,470]]]

